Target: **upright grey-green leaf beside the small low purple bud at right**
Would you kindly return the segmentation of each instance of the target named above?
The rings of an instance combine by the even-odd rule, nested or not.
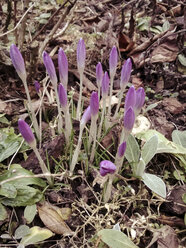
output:
[[[129,135],[125,157],[129,163],[138,163],[140,157],[140,148],[133,135]]]

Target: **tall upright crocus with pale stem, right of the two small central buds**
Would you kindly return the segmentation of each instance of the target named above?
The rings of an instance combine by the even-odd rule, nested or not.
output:
[[[114,76],[116,74],[116,69],[117,69],[117,63],[118,63],[118,52],[117,52],[117,48],[113,46],[109,57],[110,95],[109,95],[108,116],[110,116],[111,113],[111,98],[112,98]]]

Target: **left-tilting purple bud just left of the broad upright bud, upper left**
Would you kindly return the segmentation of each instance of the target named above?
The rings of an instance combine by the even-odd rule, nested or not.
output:
[[[56,87],[57,76],[56,76],[56,70],[54,67],[54,63],[53,63],[51,57],[45,51],[43,52],[43,62],[44,62],[45,68],[47,70],[47,73],[50,77],[50,80],[51,80],[53,86]]]

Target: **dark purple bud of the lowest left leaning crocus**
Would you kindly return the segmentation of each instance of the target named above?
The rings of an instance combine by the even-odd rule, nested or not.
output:
[[[24,140],[29,144],[29,146],[36,146],[36,140],[32,133],[30,126],[22,119],[18,120],[19,132],[23,136]]]

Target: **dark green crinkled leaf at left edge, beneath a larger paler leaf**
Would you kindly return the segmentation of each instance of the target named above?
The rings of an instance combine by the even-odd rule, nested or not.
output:
[[[40,190],[25,185],[17,185],[16,198],[3,198],[1,202],[6,206],[19,207],[33,205],[43,198]]]

